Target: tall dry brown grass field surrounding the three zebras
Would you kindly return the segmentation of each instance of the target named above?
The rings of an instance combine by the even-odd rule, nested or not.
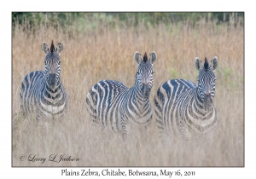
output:
[[[36,27],[34,27],[36,28]],[[217,25],[216,21],[187,22],[166,26],[125,26],[104,21],[84,32],[46,27],[35,31],[23,25],[12,32],[12,165],[13,166],[244,166],[244,29],[243,26]],[[62,42],[61,81],[68,95],[67,115],[46,136],[37,130],[33,115],[20,114],[20,84],[25,75],[44,70],[41,43]],[[195,135],[189,141],[179,136],[160,139],[153,122],[148,136],[134,130],[131,141],[122,141],[111,131],[91,129],[85,108],[85,96],[103,79],[134,85],[136,51],[158,55],[154,63],[151,103],[161,84],[172,78],[196,83],[196,56],[203,60],[218,57],[215,106],[218,127],[208,134]],[[26,160],[20,161],[25,154]],[[46,158],[28,161],[28,156]],[[51,154],[65,154],[79,161],[49,161]]]

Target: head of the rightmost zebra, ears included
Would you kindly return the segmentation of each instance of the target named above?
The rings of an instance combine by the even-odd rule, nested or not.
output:
[[[218,66],[217,57],[213,57],[210,64],[205,58],[203,64],[199,58],[195,58],[195,68],[199,71],[198,75],[198,95],[203,102],[203,107],[209,111],[213,106],[213,97],[215,94],[215,74],[214,71]]]

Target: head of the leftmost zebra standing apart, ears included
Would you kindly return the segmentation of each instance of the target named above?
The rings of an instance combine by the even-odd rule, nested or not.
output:
[[[56,84],[60,81],[61,72],[61,51],[63,50],[63,44],[58,43],[55,48],[52,41],[50,49],[46,43],[42,43],[42,51],[45,53],[45,74],[46,74],[46,84],[51,89],[55,89]]]

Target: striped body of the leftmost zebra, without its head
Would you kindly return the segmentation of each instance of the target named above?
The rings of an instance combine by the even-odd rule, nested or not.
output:
[[[36,113],[37,119],[62,118],[67,106],[67,94],[61,84],[50,89],[45,82],[44,71],[31,72],[21,84],[21,108],[24,116]]]

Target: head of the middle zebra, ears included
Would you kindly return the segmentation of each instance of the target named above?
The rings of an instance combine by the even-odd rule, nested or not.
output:
[[[135,52],[134,60],[137,62],[137,74],[136,74],[136,84],[139,89],[143,92],[143,96],[148,97],[150,90],[153,85],[153,63],[156,61],[157,55],[153,51],[149,54],[145,52],[143,58],[139,52]]]

